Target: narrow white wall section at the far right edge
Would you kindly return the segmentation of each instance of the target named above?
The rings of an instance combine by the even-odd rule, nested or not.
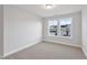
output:
[[[87,6],[81,11],[83,50],[87,56]]]

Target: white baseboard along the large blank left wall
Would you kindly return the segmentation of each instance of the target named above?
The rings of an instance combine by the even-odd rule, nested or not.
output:
[[[40,42],[42,42],[41,39],[34,41],[34,42],[31,43],[31,44],[28,44],[28,45],[24,45],[24,46],[22,46],[22,47],[19,47],[18,50],[13,50],[13,51],[11,51],[11,52],[4,54],[3,57],[7,57],[8,55],[13,54],[13,53],[17,53],[17,52],[19,52],[19,51],[22,51],[22,50],[24,50],[24,48],[26,48],[26,47],[33,46],[33,45],[35,45],[35,44],[37,44],[37,43],[40,43]]]

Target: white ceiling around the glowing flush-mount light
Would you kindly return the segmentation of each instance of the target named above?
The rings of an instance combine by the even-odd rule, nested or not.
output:
[[[65,13],[80,11],[84,6],[83,4],[55,4],[53,9],[45,9],[44,4],[19,4],[15,7],[25,9],[42,18],[47,18],[47,17],[53,17],[57,14],[65,14]]]

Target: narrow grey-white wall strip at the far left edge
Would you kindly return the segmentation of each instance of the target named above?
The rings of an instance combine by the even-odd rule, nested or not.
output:
[[[0,57],[3,55],[3,6],[0,4]]]

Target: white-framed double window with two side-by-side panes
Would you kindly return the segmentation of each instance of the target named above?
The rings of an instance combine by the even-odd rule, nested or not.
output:
[[[70,36],[72,18],[48,21],[48,35]]]

